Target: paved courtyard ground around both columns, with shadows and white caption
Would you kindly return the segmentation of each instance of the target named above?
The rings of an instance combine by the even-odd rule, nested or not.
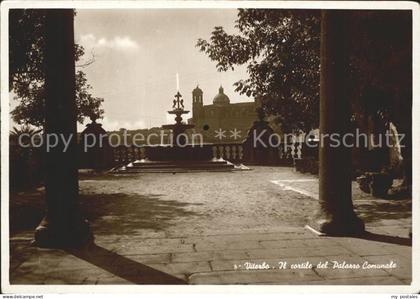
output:
[[[355,183],[360,238],[305,229],[318,180],[288,167],[84,175],[80,193],[95,241],[69,251],[30,245],[42,189],[11,196],[12,284],[411,282],[411,199],[374,199]]]

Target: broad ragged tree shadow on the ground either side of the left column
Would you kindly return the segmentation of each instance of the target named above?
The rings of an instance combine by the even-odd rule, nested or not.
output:
[[[83,215],[95,233],[131,234],[139,229],[163,230],[173,219],[200,216],[188,209],[193,203],[162,199],[160,194],[80,194]],[[10,232],[34,230],[45,214],[44,191],[11,194]]]

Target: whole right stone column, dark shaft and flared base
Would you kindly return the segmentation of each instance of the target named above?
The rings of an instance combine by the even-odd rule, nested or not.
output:
[[[353,211],[351,148],[333,147],[326,134],[350,132],[351,105],[347,92],[346,26],[349,12],[324,10],[321,16],[321,90],[319,148],[319,211],[311,224],[328,235],[364,232],[364,223]],[[323,137],[324,136],[324,137]]]

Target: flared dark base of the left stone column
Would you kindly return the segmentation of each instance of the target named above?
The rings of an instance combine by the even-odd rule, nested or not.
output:
[[[47,217],[44,217],[35,229],[33,246],[79,248],[91,241],[93,241],[93,234],[86,219],[78,219],[71,225],[63,226],[52,224]]]

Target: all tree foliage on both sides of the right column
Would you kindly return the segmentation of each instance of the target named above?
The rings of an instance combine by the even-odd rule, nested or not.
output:
[[[397,123],[411,111],[411,13],[353,11],[347,38],[349,96],[359,112],[392,112]],[[240,9],[237,34],[215,27],[197,46],[219,71],[247,65],[236,91],[262,100],[284,131],[318,126],[320,11]]]

